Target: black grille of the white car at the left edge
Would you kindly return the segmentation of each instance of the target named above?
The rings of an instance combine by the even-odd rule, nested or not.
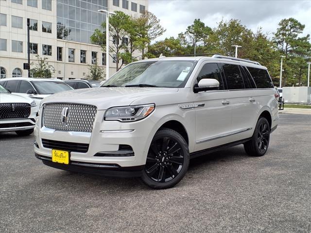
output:
[[[29,103],[0,103],[0,119],[27,118],[30,111]]]

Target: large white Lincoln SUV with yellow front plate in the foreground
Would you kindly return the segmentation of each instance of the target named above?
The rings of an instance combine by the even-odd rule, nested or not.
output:
[[[35,156],[45,165],[177,184],[190,158],[243,144],[262,156],[278,123],[266,67],[221,55],[141,60],[100,88],[41,102]]]

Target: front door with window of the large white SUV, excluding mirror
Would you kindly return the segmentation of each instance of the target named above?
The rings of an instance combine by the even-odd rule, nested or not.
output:
[[[217,63],[203,63],[195,83],[201,79],[217,79],[218,90],[194,93],[195,150],[205,150],[227,143],[225,135],[231,129],[231,108],[226,103],[229,92]]]

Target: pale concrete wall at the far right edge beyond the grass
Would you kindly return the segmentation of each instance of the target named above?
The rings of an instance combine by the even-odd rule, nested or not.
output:
[[[294,86],[283,87],[285,103],[308,103],[311,104],[311,87]]]

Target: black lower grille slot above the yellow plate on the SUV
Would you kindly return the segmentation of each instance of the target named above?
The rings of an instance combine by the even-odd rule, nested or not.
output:
[[[42,139],[42,145],[45,148],[81,153],[86,153],[88,150],[88,144],[85,143],[61,142],[49,139]]]

